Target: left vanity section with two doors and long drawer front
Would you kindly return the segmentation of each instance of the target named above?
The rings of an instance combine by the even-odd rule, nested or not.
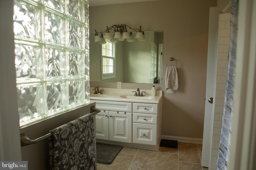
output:
[[[132,143],[132,103],[97,100],[96,139]]]

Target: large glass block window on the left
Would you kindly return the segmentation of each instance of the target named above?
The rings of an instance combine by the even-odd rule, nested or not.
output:
[[[20,126],[90,102],[88,0],[14,0]]]

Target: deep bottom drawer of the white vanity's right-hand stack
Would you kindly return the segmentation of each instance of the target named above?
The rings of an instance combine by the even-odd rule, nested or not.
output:
[[[132,142],[156,145],[156,125],[133,123]]]

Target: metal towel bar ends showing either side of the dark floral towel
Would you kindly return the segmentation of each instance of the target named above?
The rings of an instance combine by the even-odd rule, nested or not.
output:
[[[99,112],[100,112],[100,110],[96,109],[95,106],[91,107],[91,113],[90,114],[92,114],[93,116],[96,115]],[[50,137],[51,135],[52,135],[52,133],[47,133],[44,136],[41,136],[41,137],[39,137],[37,139],[32,140],[32,139],[29,139],[24,132],[22,132],[20,134],[20,144],[21,144],[22,147],[24,147],[26,145],[38,143],[38,142],[40,142],[40,141]]]

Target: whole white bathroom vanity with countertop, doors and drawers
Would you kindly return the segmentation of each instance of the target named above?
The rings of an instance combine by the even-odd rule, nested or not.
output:
[[[134,89],[103,88],[103,94],[93,94],[100,113],[96,115],[97,142],[158,150],[161,135],[162,91],[150,96],[134,96]]]

